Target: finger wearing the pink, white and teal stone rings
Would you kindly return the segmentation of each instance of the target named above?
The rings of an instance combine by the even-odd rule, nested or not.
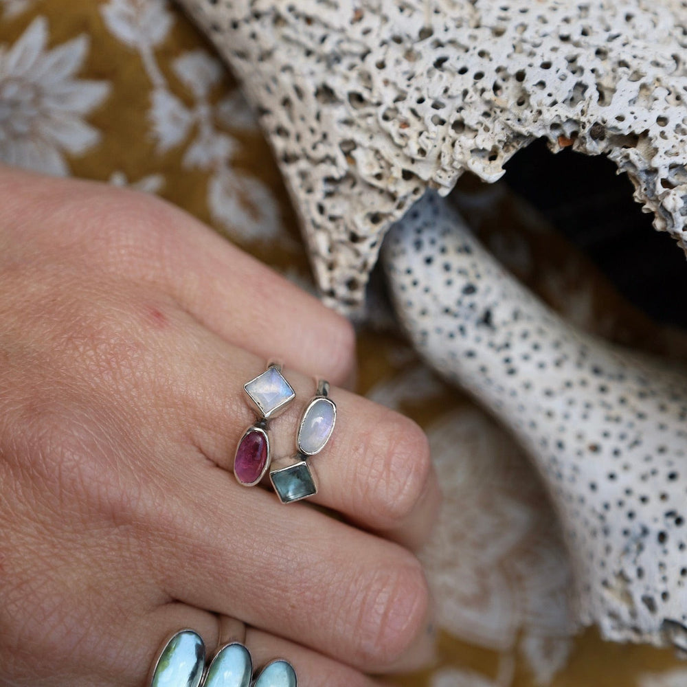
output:
[[[160,395],[176,398],[177,425],[187,433],[179,440],[192,442],[232,472],[236,444],[254,422],[242,382],[262,372],[264,361],[202,328],[190,328],[177,348],[173,360],[178,390]],[[286,368],[284,376],[297,400],[271,422],[270,440],[273,455],[288,458],[295,452],[300,415],[315,382]],[[349,392],[334,388],[330,398],[337,403],[337,425],[322,453],[309,459],[319,480],[314,502],[361,527],[418,547],[429,534],[440,500],[425,434],[404,416]]]

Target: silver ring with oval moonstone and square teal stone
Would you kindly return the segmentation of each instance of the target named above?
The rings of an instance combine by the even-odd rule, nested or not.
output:
[[[301,416],[296,436],[297,453],[290,465],[272,470],[269,479],[282,504],[317,494],[308,458],[324,449],[337,421],[337,406],[329,396],[329,383],[320,379],[317,391]]]

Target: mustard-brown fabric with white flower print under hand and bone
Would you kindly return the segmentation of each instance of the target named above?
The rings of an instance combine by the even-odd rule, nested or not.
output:
[[[295,213],[238,88],[168,0],[0,0],[0,160],[159,194],[312,289]],[[578,326],[687,358],[503,185],[455,202],[484,243]],[[378,313],[377,322],[385,320]],[[513,440],[400,338],[360,335],[359,391],[429,434],[446,493],[423,553],[438,666],[414,687],[682,687],[671,651],[574,635],[555,517]]]

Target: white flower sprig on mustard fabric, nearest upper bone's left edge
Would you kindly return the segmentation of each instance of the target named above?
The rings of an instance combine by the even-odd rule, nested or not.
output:
[[[234,169],[240,150],[238,140],[222,128],[257,128],[243,98],[234,91],[217,105],[210,102],[221,82],[221,63],[203,49],[185,52],[172,62],[179,83],[192,96],[189,106],[172,92],[155,58],[172,27],[166,0],[109,0],[102,8],[109,30],[137,49],[153,85],[148,119],[160,154],[183,146],[183,165],[209,172],[207,205],[213,221],[233,238],[272,242],[295,249],[295,242],[282,225],[280,210],[269,189],[254,177]]]

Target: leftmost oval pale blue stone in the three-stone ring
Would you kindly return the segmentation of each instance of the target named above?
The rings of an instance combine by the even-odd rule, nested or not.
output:
[[[198,687],[204,669],[203,640],[192,630],[182,630],[162,651],[150,687]]]

